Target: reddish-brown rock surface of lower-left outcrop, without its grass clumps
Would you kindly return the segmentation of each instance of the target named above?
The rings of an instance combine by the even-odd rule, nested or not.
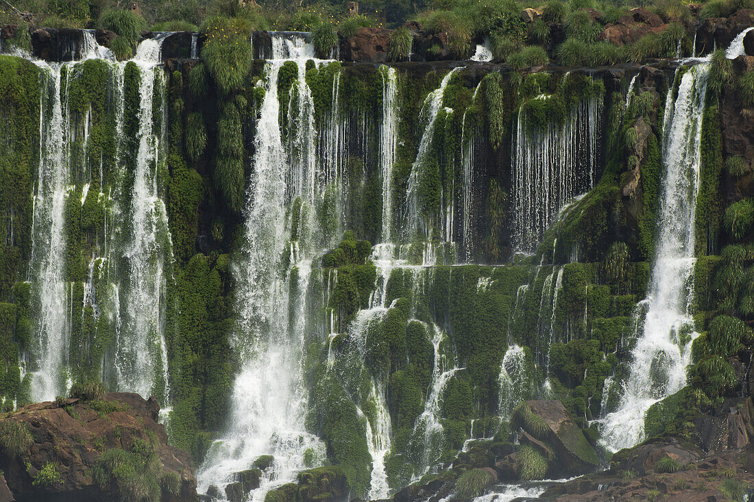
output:
[[[192,458],[167,444],[165,428],[158,423],[159,410],[154,397],[108,393],[93,401],[61,399],[0,415],[0,422],[26,428],[32,439],[20,455],[0,456],[9,491],[19,501],[121,500],[115,483],[102,487],[94,479],[100,457],[117,448],[156,455],[162,474],[151,482],[174,480],[172,493],[164,491],[162,500],[195,500]],[[0,500],[11,500],[3,498],[4,493],[0,482]]]

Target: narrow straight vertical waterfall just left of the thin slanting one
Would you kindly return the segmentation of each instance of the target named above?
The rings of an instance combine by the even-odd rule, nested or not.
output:
[[[379,164],[382,173],[382,242],[391,241],[393,226],[393,164],[398,147],[398,77],[394,68],[380,67],[382,122],[379,130]]]

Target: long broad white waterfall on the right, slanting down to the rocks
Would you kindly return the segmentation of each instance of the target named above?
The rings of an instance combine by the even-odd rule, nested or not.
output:
[[[682,77],[675,101],[672,87],[668,91],[657,251],[648,297],[637,309],[636,347],[621,403],[602,421],[601,441],[611,451],[641,441],[649,407],[686,383],[685,370],[691,362],[687,334],[694,326],[694,214],[708,72],[709,63],[691,67]]]

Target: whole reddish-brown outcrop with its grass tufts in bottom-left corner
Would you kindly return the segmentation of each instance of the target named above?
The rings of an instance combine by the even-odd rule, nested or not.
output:
[[[167,444],[159,410],[107,393],[0,415],[0,500],[194,500],[192,458]]]

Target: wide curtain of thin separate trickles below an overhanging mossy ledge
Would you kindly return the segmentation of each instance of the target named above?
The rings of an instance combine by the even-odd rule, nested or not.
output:
[[[520,107],[511,145],[518,251],[531,252],[566,201],[594,185],[601,115],[601,97],[581,99],[562,126],[550,122],[530,132],[526,109]]]

